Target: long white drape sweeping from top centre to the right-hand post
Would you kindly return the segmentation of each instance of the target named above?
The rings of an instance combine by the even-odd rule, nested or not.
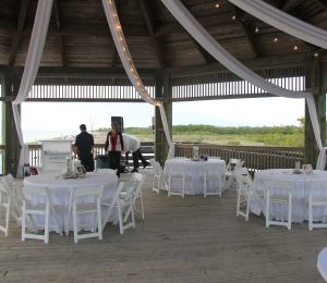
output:
[[[311,93],[289,90],[264,79],[238,61],[227,50],[225,50],[225,48],[220,46],[217,40],[197,22],[197,20],[189,12],[189,10],[181,3],[180,0],[161,0],[161,2],[203,48],[205,48],[214,58],[217,59],[217,61],[219,61],[239,77],[275,96],[287,98],[306,98],[315,138],[320,150],[316,169],[324,170],[326,149],[323,147],[322,143],[319,123],[313,95]]]

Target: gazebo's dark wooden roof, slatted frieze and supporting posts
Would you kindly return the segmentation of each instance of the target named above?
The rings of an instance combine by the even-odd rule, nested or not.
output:
[[[170,127],[173,102],[271,96],[219,64],[161,1],[119,0],[116,4],[137,71],[152,96],[164,102]],[[251,70],[280,86],[313,91],[325,140],[326,50],[282,33],[228,1],[190,0],[184,4]],[[271,4],[319,27],[327,25],[324,1]],[[36,5],[34,0],[0,3],[5,173],[17,164],[11,101],[20,86]],[[41,66],[27,101],[142,101],[122,69],[100,1],[55,0]],[[305,113],[305,160],[315,163],[317,148],[307,110]],[[162,163],[167,142],[158,112],[155,151]]]

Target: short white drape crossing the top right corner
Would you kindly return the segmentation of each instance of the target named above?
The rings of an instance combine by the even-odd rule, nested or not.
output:
[[[327,49],[327,30],[305,23],[262,0],[229,0],[249,14],[306,42]],[[174,2],[174,1],[171,1]]]

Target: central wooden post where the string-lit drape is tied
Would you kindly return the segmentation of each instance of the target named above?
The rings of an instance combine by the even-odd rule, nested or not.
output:
[[[160,75],[156,78],[156,99],[162,101],[164,108],[166,111],[167,120],[168,120],[168,127],[170,131],[171,137],[171,128],[172,128],[172,102],[171,102],[171,95],[172,95],[172,87],[169,82],[168,75]],[[155,158],[156,160],[164,165],[167,159],[169,145],[164,132],[162,121],[160,116],[160,111],[158,107],[156,107],[155,112]]]

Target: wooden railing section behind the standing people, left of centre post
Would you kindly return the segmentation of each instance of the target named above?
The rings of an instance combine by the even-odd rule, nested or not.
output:
[[[141,143],[141,152],[145,157],[145,159],[149,160],[154,158],[154,143]],[[40,145],[29,145],[29,164],[34,167],[40,167],[40,157],[41,157],[41,147]],[[94,147],[96,156],[105,155],[105,145],[104,144],[96,144]],[[129,158],[129,164],[132,163],[132,155]]]

